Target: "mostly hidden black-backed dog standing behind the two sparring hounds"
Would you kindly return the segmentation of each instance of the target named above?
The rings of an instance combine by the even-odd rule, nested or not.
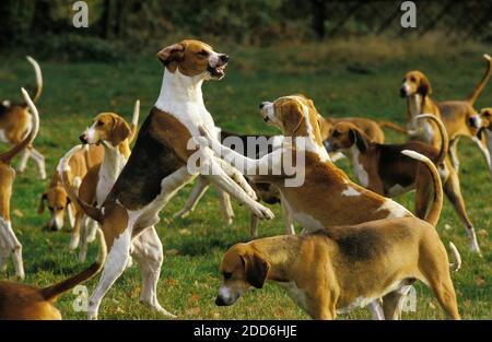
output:
[[[281,135],[268,135],[268,134],[238,134],[231,131],[220,131],[220,142],[222,144],[234,146],[234,150],[244,155],[254,156],[256,158],[262,157],[265,154],[270,153],[272,150],[281,146],[283,137]],[[281,203],[279,190],[269,184],[255,184],[251,179],[247,179],[249,185],[255,190],[256,197],[259,201],[267,204]],[[210,181],[204,176],[198,176],[197,181],[186,200],[181,210],[174,214],[175,219],[187,217],[198,204],[198,201],[210,187]],[[233,223],[234,210],[231,205],[230,196],[215,188],[221,212],[225,217],[227,225]],[[284,222],[285,234],[295,234],[294,224],[285,208],[282,208],[282,220]],[[251,237],[258,236],[258,217],[253,213],[249,215],[249,234]]]

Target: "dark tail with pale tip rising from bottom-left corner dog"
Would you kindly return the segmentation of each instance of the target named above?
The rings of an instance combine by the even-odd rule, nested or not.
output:
[[[106,261],[107,247],[103,231],[97,229],[97,234],[99,237],[99,253],[97,256],[97,260],[93,264],[91,264],[89,269],[69,279],[66,279],[55,285],[43,288],[40,292],[46,300],[55,300],[63,292],[67,292],[70,288],[73,288],[74,286],[79,285],[80,283],[85,282],[86,280],[91,279],[103,269],[104,262]]]

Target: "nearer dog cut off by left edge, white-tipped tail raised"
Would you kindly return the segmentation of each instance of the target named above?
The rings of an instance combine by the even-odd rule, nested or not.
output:
[[[27,92],[22,89],[22,95],[32,115],[31,131],[16,145],[0,154],[0,271],[7,269],[7,262],[12,255],[15,269],[15,276],[23,280],[25,278],[24,263],[22,260],[22,245],[12,228],[10,221],[10,199],[12,197],[12,185],[15,179],[15,170],[10,166],[12,158],[24,151],[39,131],[39,116],[34,103]]]

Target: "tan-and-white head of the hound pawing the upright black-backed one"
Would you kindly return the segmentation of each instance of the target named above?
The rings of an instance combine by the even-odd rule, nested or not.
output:
[[[278,127],[283,135],[308,137],[321,144],[319,114],[306,96],[283,96],[273,103],[262,102],[259,107],[263,121]]]

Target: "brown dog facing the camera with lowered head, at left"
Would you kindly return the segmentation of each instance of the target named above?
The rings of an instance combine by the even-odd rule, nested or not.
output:
[[[87,170],[101,163],[103,157],[104,149],[102,146],[89,146],[74,153],[69,160],[70,182],[79,188]],[[37,213],[40,215],[44,213],[45,207],[48,207],[49,220],[44,225],[44,228],[48,231],[61,229],[65,225],[66,213],[69,217],[70,229],[72,229],[75,223],[74,217],[79,212],[77,205],[71,203],[67,191],[65,191],[60,177],[60,163],[61,160],[52,172],[51,181],[48,189],[40,196],[39,207],[37,208]]]

